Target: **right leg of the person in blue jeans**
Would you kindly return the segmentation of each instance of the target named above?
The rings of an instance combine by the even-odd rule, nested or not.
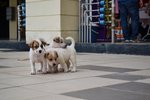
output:
[[[128,4],[128,10],[131,17],[131,40],[136,40],[139,34],[139,8],[138,2]]]

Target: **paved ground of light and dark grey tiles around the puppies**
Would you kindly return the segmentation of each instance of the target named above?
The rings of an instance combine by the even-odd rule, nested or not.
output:
[[[0,100],[150,100],[150,56],[78,53],[77,69],[30,75],[28,52],[0,49]]]

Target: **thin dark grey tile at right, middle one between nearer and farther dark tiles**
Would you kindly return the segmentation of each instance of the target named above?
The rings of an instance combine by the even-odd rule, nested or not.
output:
[[[150,78],[148,76],[130,75],[130,74],[127,74],[127,73],[115,73],[115,74],[98,76],[98,77],[111,78],[111,79],[120,79],[120,80],[128,80],[128,81],[136,81],[136,80]]]

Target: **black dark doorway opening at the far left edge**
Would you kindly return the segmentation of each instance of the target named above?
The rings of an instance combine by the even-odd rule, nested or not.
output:
[[[0,40],[9,39],[9,21],[6,20],[6,8],[9,6],[9,0],[0,1]]]

